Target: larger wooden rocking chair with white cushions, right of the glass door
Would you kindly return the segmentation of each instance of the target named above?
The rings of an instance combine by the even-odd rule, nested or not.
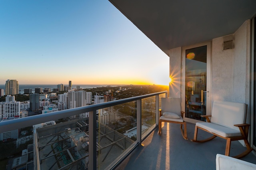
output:
[[[216,136],[224,138],[226,142],[225,155],[229,156],[231,141],[244,140],[246,150],[234,158],[242,158],[252,151],[248,142],[249,124],[245,124],[247,105],[244,103],[214,101],[212,115],[202,115],[207,122],[196,123],[193,142],[207,142]],[[211,121],[209,119],[211,117]],[[210,138],[197,140],[198,128],[213,134]]]

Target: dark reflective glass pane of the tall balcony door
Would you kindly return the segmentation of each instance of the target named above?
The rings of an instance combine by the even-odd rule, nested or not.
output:
[[[186,49],[185,109],[186,117],[205,121],[207,45]]]

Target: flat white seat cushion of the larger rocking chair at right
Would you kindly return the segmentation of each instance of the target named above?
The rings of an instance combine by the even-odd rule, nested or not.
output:
[[[239,130],[234,130],[232,128],[227,128],[215,123],[196,123],[196,126],[204,128],[212,133],[218,134],[223,137],[241,136]]]

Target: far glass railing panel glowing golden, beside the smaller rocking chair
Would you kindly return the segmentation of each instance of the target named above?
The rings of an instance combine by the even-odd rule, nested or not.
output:
[[[141,101],[141,134],[142,138],[156,126],[156,96]]]

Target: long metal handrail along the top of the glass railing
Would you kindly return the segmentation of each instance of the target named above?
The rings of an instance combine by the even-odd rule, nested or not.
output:
[[[40,115],[34,115],[34,116],[29,116],[29,117],[24,117],[24,118],[19,118],[19,119],[2,121],[2,122],[0,122],[0,133],[8,132],[11,130],[16,130],[19,128],[33,126],[36,124],[45,123],[45,122],[52,121],[52,120],[62,119],[62,118],[70,117],[73,115],[79,115],[81,113],[86,113],[86,112],[90,112],[90,111],[94,111],[94,110],[98,110],[98,109],[103,109],[106,107],[120,105],[123,103],[128,103],[130,101],[136,101],[136,100],[144,99],[146,97],[160,95],[163,93],[167,93],[167,91],[151,93],[151,94],[141,95],[141,96],[136,96],[136,97],[130,97],[130,98],[120,99],[120,100],[116,100],[116,101],[109,101],[109,102],[99,103],[99,104],[94,104],[94,105],[88,105],[88,106],[78,107],[78,108],[74,108],[74,109],[66,109],[66,110],[56,111],[56,112],[52,112],[52,113],[44,113],[44,114],[40,114]]]

